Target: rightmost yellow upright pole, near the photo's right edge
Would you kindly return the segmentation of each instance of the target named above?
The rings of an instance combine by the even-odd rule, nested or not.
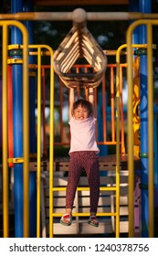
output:
[[[153,33],[151,23],[147,26],[148,54],[148,152],[149,152],[149,237],[153,238]]]

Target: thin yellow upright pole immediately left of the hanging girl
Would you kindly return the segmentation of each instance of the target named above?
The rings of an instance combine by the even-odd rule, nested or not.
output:
[[[54,167],[54,70],[53,50],[50,51],[50,136],[49,136],[49,237],[53,237],[53,167]]]

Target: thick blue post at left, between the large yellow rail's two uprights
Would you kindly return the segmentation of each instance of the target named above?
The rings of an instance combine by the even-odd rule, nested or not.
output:
[[[22,12],[22,2],[11,1],[11,13]],[[17,27],[11,28],[11,43],[21,44],[22,36]],[[13,58],[22,57],[15,54]],[[14,133],[14,157],[23,155],[23,104],[22,104],[22,65],[13,65],[13,133]],[[14,166],[15,181],[15,237],[23,237],[23,165]]]

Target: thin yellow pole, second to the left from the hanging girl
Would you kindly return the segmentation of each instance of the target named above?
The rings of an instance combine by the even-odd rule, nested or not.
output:
[[[41,48],[37,48],[37,238],[40,238]]]

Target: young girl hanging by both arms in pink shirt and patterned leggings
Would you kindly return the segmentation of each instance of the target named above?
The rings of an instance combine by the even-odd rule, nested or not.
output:
[[[93,114],[93,89],[90,89],[90,101],[74,102],[74,90],[69,92],[69,125],[71,133],[68,186],[66,191],[66,213],[60,223],[66,226],[72,222],[72,208],[79,176],[85,170],[90,185],[90,219],[88,223],[99,226],[96,217],[100,197],[100,170],[97,154],[99,148],[95,140],[95,122]]]

